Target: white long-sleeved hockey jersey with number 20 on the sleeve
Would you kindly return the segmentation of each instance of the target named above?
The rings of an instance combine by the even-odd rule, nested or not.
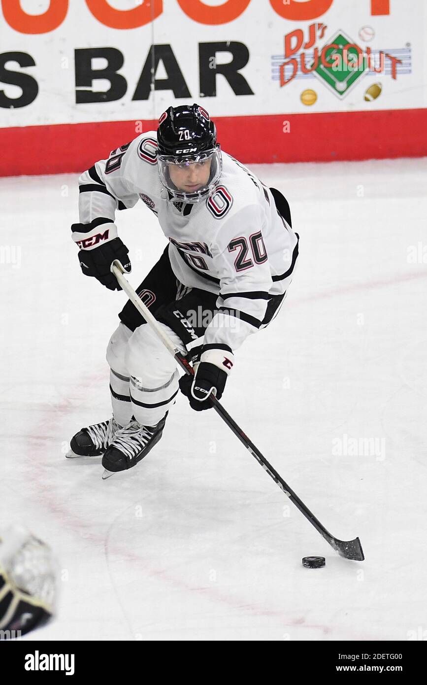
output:
[[[222,152],[222,175],[213,195],[188,204],[171,198],[162,186],[156,151],[156,133],[144,133],[79,177],[79,219],[94,227],[81,234],[81,247],[95,249],[99,240],[114,239],[116,209],[142,199],[170,241],[177,279],[218,295],[205,344],[235,350],[263,325],[271,296],[287,289],[298,238],[277,211],[270,189],[227,153]],[[230,316],[239,319],[238,326],[230,325]]]

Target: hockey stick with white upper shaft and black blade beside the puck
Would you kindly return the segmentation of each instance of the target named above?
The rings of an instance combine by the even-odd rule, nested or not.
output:
[[[146,323],[153,328],[157,336],[159,336],[161,342],[164,344],[164,346],[170,351],[172,356],[174,356],[175,360],[181,366],[181,369],[185,371],[185,373],[188,373],[190,375],[194,375],[194,371],[192,369],[192,366],[190,366],[190,363],[187,362],[187,360],[182,356],[181,351],[179,350],[178,347],[175,347],[175,345],[172,343],[172,340],[168,338],[164,330],[159,326],[159,323],[157,319],[155,319],[155,316],[151,314],[150,310],[146,308],[140,297],[136,294],[135,290],[131,287],[127,279],[123,276],[123,273],[125,273],[125,269],[123,269],[122,264],[118,260],[114,260],[112,263],[111,267],[112,273],[114,273],[118,284],[122,287],[122,289],[126,292],[127,296],[129,299],[133,302],[135,307],[138,309],[140,314],[144,317]],[[300,510],[300,512],[305,516],[308,521],[310,521],[311,525],[315,527],[315,529],[324,537],[326,542],[335,549],[339,553],[339,556],[342,556],[346,559],[352,559],[355,561],[363,561],[365,558],[363,556],[363,551],[361,547],[361,543],[359,538],[354,538],[354,540],[338,540],[337,538],[334,538],[331,533],[329,533],[324,525],[320,523],[318,519],[314,516],[314,514],[311,513],[311,511],[305,506],[305,503],[294,493],[291,488],[289,488],[289,485],[285,483],[283,478],[277,473],[277,471],[273,468],[273,466],[266,460],[265,457],[261,454],[259,449],[255,447],[253,442],[249,440],[248,436],[244,434],[242,429],[235,423],[235,421],[231,418],[230,414],[224,409],[224,407],[220,404],[218,399],[216,397],[213,397],[211,395],[211,402],[213,404],[213,409],[221,416],[221,419],[224,421],[224,423],[227,423],[229,428],[233,431],[235,436],[240,440],[242,445],[246,447],[248,451],[252,454],[253,457],[261,464],[263,467],[264,471],[267,471],[268,475],[272,477],[272,479],[278,484],[279,488],[289,497],[289,499],[295,504],[296,507]]]

